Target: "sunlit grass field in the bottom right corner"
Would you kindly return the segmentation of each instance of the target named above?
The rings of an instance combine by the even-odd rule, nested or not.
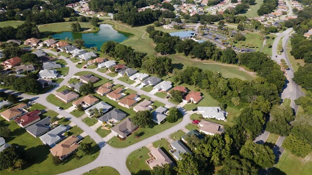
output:
[[[288,150],[285,150],[282,157],[280,157],[275,168],[284,172],[286,175],[311,175],[312,172],[312,155],[308,155],[306,158],[296,157]],[[276,171],[277,172],[277,171]],[[270,175],[277,174],[275,170]],[[285,175],[284,174],[284,175]]]

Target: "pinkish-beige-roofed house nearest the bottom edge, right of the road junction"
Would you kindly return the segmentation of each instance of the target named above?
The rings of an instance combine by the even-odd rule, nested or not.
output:
[[[145,162],[152,170],[157,165],[161,167],[167,163],[173,165],[173,161],[160,148],[151,150],[151,155],[153,157],[145,160]]]

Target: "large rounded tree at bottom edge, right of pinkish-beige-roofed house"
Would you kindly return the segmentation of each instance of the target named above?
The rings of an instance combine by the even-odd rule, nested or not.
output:
[[[178,160],[174,168],[178,175],[199,175],[198,164],[195,158],[189,154],[180,154],[181,160]]]

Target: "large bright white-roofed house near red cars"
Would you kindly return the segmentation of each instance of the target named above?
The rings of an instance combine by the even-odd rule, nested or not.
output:
[[[197,114],[202,114],[204,118],[215,118],[216,120],[226,121],[225,117],[227,112],[222,110],[220,107],[197,107]]]

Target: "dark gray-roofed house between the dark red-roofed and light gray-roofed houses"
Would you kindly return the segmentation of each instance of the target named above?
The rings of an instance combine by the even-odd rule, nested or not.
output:
[[[48,130],[50,129],[50,119],[51,117],[44,118],[39,122],[26,127],[25,129],[29,134],[37,138],[42,134],[48,132]]]

